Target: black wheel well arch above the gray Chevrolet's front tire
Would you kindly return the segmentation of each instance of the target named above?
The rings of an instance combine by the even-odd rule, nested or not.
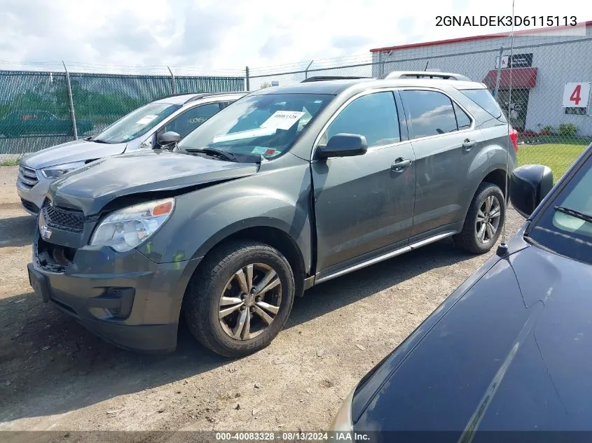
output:
[[[294,283],[296,284],[296,296],[301,296],[304,293],[304,279],[305,279],[305,265],[300,248],[296,245],[296,242],[286,232],[277,229],[276,227],[258,226],[258,227],[247,227],[244,230],[230,234],[225,239],[222,239],[216,243],[212,248],[207,251],[202,262],[207,260],[208,255],[218,248],[222,244],[228,243],[228,241],[236,240],[252,240],[261,241],[261,243],[273,246],[277,251],[280,251],[284,257],[288,260],[292,272],[294,272]],[[200,265],[201,265],[200,263]],[[195,269],[198,272],[200,266]]]

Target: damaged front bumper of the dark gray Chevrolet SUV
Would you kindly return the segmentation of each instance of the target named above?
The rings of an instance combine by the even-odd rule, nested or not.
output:
[[[39,225],[43,220],[36,227],[28,271],[43,301],[122,348],[175,349],[181,301],[199,259],[158,264],[136,249],[118,253],[106,246],[66,246],[81,236],[53,230],[57,243],[54,237],[46,241]]]

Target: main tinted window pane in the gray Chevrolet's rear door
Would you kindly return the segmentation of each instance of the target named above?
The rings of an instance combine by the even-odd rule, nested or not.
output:
[[[457,130],[452,101],[435,91],[403,91],[415,139]]]

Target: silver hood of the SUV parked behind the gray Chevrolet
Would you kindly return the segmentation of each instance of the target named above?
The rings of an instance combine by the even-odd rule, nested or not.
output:
[[[26,155],[22,164],[33,169],[41,169],[57,164],[96,160],[123,153],[126,143],[95,143],[88,140],[74,140],[61,145],[51,146],[37,153]]]

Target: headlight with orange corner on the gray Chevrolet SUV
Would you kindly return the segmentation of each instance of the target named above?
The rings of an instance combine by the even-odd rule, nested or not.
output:
[[[154,234],[173,209],[174,198],[168,198],[115,211],[99,223],[90,245],[110,246],[119,252],[130,251]]]

